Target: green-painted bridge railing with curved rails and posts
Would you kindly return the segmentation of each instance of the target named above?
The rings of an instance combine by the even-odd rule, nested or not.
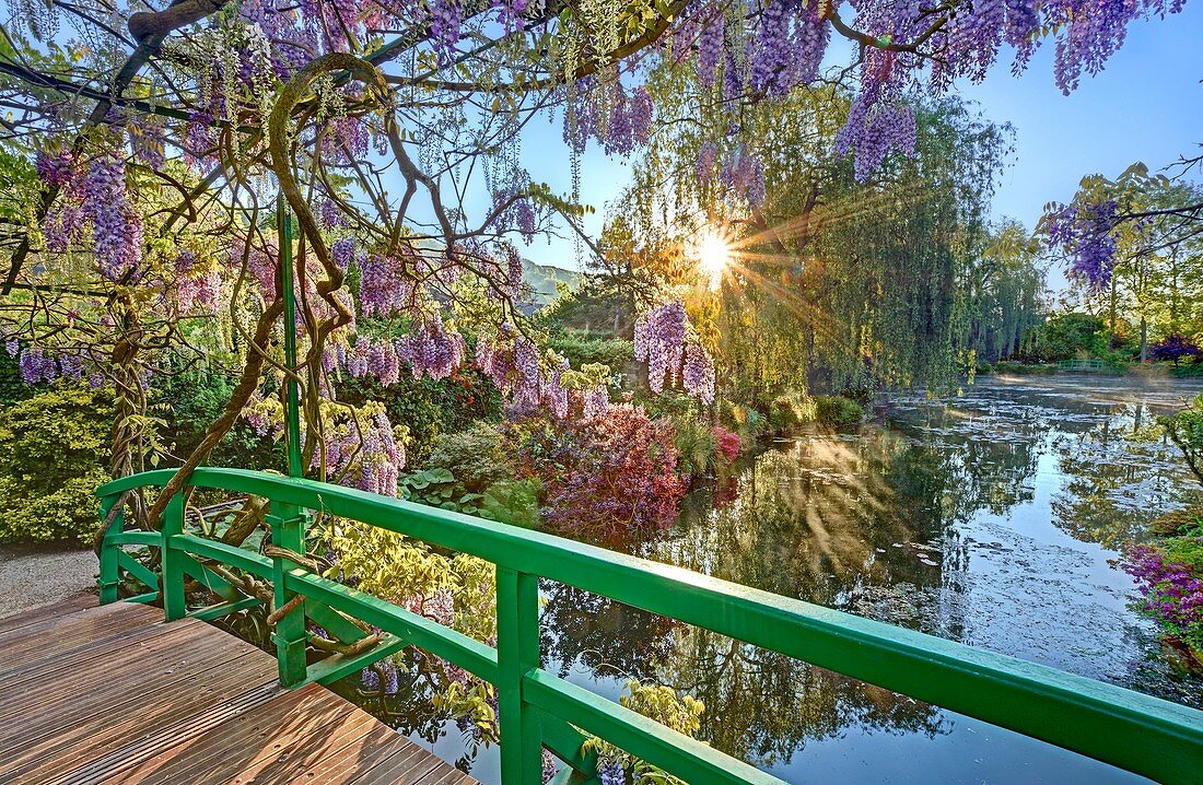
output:
[[[272,542],[303,553],[306,511],[360,521],[468,553],[497,566],[497,648],[474,641],[298,566],[272,551],[267,558],[184,530],[184,495],[171,500],[159,531],[124,530],[123,498],[162,487],[172,470],[124,477],[99,490],[113,525],[101,552],[101,601],[118,599],[122,575],[161,599],[167,619],[218,618],[259,603],[212,565],[272,581],[278,619],[273,640],[286,685],[328,683],[416,646],[494,684],[506,785],[540,781],[541,748],[568,767],[562,781],[594,781],[595,755],[582,753],[595,735],[693,783],[781,783],[701,742],[540,667],[538,579],[550,578],[651,613],[678,619],[846,676],[902,692],[986,722],[1050,742],[1165,783],[1195,783],[1203,772],[1203,712],[1112,684],[864,619],[808,602],[628,557],[571,540],[309,480],[239,469],[198,469],[189,487],[269,500]],[[123,546],[160,549],[161,573]],[[229,575],[229,573],[227,573]],[[221,602],[189,611],[185,576]],[[343,615],[345,614],[345,615]],[[346,617],[385,631],[367,652],[306,661],[306,618],[339,640],[366,637]],[[352,647],[354,649],[354,647]]]

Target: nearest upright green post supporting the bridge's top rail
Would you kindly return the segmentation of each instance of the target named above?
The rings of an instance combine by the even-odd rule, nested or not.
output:
[[[497,706],[504,785],[543,781],[539,714],[522,696],[527,673],[539,667],[539,579],[497,569]]]

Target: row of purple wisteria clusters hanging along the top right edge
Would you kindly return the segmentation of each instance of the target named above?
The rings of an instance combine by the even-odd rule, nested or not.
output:
[[[1069,94],[1083,73],[1103,69],[1133,20],[1177,13],[1183,5],[990,0],[958,4],[948,12],[873,0],[693,2],[678,23],[674,55],[680,61],[693,52],[699,87],[718,89],[724,103],[771,100],[819,77],[838,18],[840,34],[859,47],[860,85],[836,151],[852,153],[857,177],[865,180],[891,151],[913,155],[908,95],[944,91],[958,78],[985,78],[1005,46],[1014,49],[1012,71],[1019,73],[1049,38],[1055,41],[1056,85]],[[854,18],[845,18],[849,12]],[[715,170],[701,160],[698,168],[704,180]]]

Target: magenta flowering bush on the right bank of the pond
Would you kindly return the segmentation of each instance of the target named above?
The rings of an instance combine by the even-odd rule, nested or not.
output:
[[[1171,537],[1125,553],[1124,570],[1137,579],[1136,605],[1162,632],[1203,653],[1203,536]]]

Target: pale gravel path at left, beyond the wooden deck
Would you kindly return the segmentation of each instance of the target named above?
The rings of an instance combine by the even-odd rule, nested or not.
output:
[[[0,617],[95,591],[97,569],[88,549],[0,545]]]

